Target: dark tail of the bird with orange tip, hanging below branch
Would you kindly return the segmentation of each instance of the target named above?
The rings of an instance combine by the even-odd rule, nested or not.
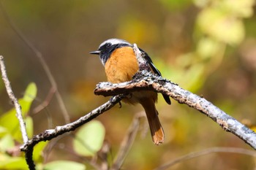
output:
[[[163,143],[165,139],[165,134],[159,121],[158,112],[156,106],[154,105],[153,99],[143,98],[143,100],[140,101],[140,104],[145,109],[154,144],[158,145],[160,143]]]

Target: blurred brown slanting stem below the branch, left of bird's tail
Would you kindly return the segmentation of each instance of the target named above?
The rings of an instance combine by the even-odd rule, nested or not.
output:
[[[129,150],[132,147],[132,144],[135,140],[136,134],[138,134],[138,129],[140,125],[140,118],[144,117],[145,115],[142,115],[141,112],[135,115],[135,117],[132,120],[131,125],[129,125],[129,129],[127,131],[126,136],[124,136],[123,141],[121,142],[121,147],[118,150],[118,153],[116,155],[116,159],[113,163],[113,166],[111,170],[118,170],[121,169],[122,164],[124,163],[124,159],[126,158]]]

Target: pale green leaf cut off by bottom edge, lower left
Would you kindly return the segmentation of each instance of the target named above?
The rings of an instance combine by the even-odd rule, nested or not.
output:
[[[53,161],[45,164],[44,170],[85,170],[86,166],[82,163],[76,163],[72,161]]]

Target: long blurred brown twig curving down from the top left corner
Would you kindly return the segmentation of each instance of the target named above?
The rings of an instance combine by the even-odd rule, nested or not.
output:
[[[34,47],[34,45],[29,41],[29,39],[27,39],[26,36],[23,35],[23,33],[20,31],[20,29],[17,26],[15,26],[15,23],[12,22],[12,20],[9,17],[7,11],[4,9],[4,6],[1,3],[1,1],[0,1],[0,7],[1,7],[2,12],[4,14],[5,20],[7,20],[7,22],[10,24],[11,28],[13,29],[13,31],[15,31],[16,34],[18,34],[20,39],[23,42],[25,42],[26,45],[29,46],[29,48],[34,52],[34,54],[39,59],[39,62],[41,63],[42,68],[44,69],[45,74],[47,75],[48,80],[50,81],[50,85],[52,86],[52,88],[54,90],[56,90],[56,98],[57,98],[57,101],[59,102],[59,107],[61,108],[62,114],[64,116],[64,120],[65,120],[66,123],[69,123],[70,122],[70,118],[69,118],[69,114],[67,112],[67,108],[65,107],[63,98],[61,97],[61,94],[59,93],[56,80],[54,79],[53,74],[50,72],[49,66],[45,62],[45,59],[43,58],[42,53],[40,53],[39,50],[37,50],[37,48]]]

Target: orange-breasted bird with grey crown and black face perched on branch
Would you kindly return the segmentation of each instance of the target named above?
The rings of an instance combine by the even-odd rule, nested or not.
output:
[[[151,72],[161,76],[159,70],[154,66],[149,55],[145,53],[146,62],[151,67]],[[98,50],[90,54],[99,55],[102,65],[105,67],[105,74],[108,82],[120,83],[132,80],[132,77],[138,72],[139,65],[133,50],[133,45],[124,39],[108,39],[99,45]],[[169,96],[162,94],[167,104],[171,104]],[[128,104],[141,104],[146,112],[148,125],[151,131],[151,138],[154,144],[164,142],[165,133],[159,121],[158,112],[155,106],[157,102],[157,93],[152,90],[139,90],[131,93],[131,96],[124,98],[123,101]]]

